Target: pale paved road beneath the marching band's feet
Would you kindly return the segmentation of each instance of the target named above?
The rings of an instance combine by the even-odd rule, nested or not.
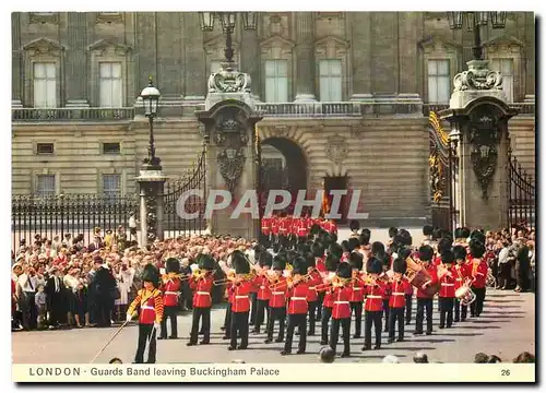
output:
[[[412,322],[406,326],[406,332],[408,332],[406,342],[387,344],[387,333],[383,333],[383,347],[364,354],[360,352],[363,340],[354,340],[352,357],[337,358],[336,361],[377,362],[385,355],[396,355],[401,361],[410,362],[417,350],[424,350],[430,359],[442,362],[472,362],[477,352],[498,355],[506,360],[513,359],[523,350],[535,353],[534,297],[534,294],[488,290],[484,313],[477,319],[456,323],[449,330],[439,330],[439,314],[435,311],[435,332],[431,336],[413,336],[411,334],[414,330]],[[282,356],[280,352],[283,344],[264,344],[264,334],[251,335],[247,350],[228,352],[228,343],[222,340],[223,333],[219,331],[223,320],[224,310],[213,310],[211,344],[187,347],[191,315],[179,315],[180,338],[158,342],[158,361],[232,362],[238,359],[246,362],[272,364],[317,361],[317,354],[321,347],[319,336],[308,337],[308,353],[305,355]],[[115,331],[115,327],[110,327],[13,333],[13,361],[16,364],[86,364]],[[119,357],[123,362],[131,362],[138,327],[127,326],[96,361],[107,362],[114,357]],[[297,337],[295,338],[294,354],[297,346]],[[341,352],[341,349],[342,346],[339,345],[337,350]]]

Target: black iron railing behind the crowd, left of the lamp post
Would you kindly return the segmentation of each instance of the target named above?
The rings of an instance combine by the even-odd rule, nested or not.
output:
[[[131,214],[138,216],[134,195],[105,196],[96,194],[60,194],[54,196],[13,195],[11,202],[12,241],[14,250],[22,239],[27,245],[35,235],[52,239],[66,234],[72,238],[83,234],[84,242],[93,240],[95,227],[116,231],[128,229]]]

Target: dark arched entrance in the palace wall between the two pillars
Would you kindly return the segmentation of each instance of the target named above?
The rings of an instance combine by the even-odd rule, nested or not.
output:
[[[260,147],[262,204],[270,190],[287,190],[294,202],[298,190],[307,189],[307,159],[301,147],[285,138],[268,138]]]

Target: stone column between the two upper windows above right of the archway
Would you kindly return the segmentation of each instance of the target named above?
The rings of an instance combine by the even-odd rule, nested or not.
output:
[[[296,102],[314,102],[314,20],[296,13]]]

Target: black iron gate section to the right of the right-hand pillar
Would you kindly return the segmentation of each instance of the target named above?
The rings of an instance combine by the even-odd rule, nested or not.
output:
[[[529,175],[515,157],[508,160],[508,224],[535,228],[535,178]]]

